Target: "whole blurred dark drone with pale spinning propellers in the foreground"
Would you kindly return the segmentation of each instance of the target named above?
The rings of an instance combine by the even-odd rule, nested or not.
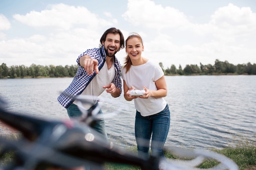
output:
[[[90,103],[86,96],[76,96],[81,103]],[[1,103],[4,103],[1,101]],[[167,148],[179,157],[190,160],[165,160],[150,156],[141,158],[112,142],[103,140],[90,125],[99,119],[97,109],[83,113],[79,120],[44,120],[4,110],[0,106],[0,120],[21,132],[21,138],[13,141],[0,139],[0,156],[13,151],[15,157],[2,167],[3,170],[45,170],[49,168],[72,169],[86,166],[104,170],[105,163],[138,166],[144,170],[199,170],[205,159],[220,162],[207,170],[238,170],[234,161],[209,150]]]

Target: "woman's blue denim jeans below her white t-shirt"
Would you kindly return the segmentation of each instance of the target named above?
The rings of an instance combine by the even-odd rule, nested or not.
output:
[[[149,145],[151,141],[152,155],[164,157],[163,147],[170,127],[170,110],[168,104],[161,112],[143,117],[137,111],[135,117],[135,138],[137,142],[138,155],[149,156]]]

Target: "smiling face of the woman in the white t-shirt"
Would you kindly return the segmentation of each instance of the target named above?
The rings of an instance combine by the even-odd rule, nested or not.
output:
[[[133,37],[126,41],[126,53],[131,60],[140,58],[142,51],[144,51],[144,46],[139,38]]]

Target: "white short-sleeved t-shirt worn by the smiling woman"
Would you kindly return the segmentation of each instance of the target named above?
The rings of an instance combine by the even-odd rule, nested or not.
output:
[[[164,75],[162,68],[153,62],[146,62],[139,66],[131,66],[130,70],[126,72],[126,68],[122,68],[122,78],[125,80],[128,88],[132,86],[135,90],[143,90],[144,86],[149,90],[156,91],[157,87],[155,81]],[[126,93],[126,92],[125,92]],[[166,107],[166,101],[163,97],[148,99],[136,98],[133,99],[135,108],[142,116],[154,115],[161,112]]]

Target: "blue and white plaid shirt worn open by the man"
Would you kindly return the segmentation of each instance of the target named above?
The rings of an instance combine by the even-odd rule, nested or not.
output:
[[[97,75],[94,71],[93,75],[87,75],[87,72],[85,69],[79,64],[79,58],[83,55],[90,55],[91,58],[94,58],[98,60],[98,68],[99,70],[103,67],[105,61],[106,61],[106,53],[104,50],[104,47],[101,48],[94,48],[94,49],[88,49],[79,57],[77,58],[76,62],[79,65],[79,68],[76,71],[76,75],[74,76],[74,79],[72,83],[61,93],[61,95],[58,96],[58,102],[65,108],[68,108],[73,102],[74,99],[70,96],[76,96],[80,95],[84,89],[88,86],[88,84],[91,82],[93,77]],[[112,83],[115,84],[117,88],[120,89],[120,94],[122,92],[122,82],[121,82],[121,64],[117,60],[117,58],[114,56],[114,66],[115,66],[115,78],[112,80]],[[67,95],[70,96],[67,96]]]

